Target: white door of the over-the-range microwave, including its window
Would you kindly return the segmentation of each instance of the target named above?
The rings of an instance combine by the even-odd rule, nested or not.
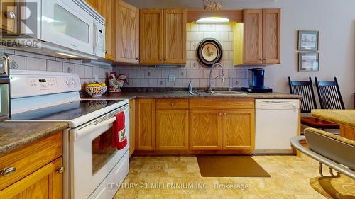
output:
[[[94,18],[74,1],[42,1],[42,40],[94,55]]]

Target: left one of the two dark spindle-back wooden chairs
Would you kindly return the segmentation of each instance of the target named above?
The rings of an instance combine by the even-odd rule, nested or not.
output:
[[[315,101],[315,92],[313,91],[311,78],[309,81],[291,81],[289,76],[288,85],[290,86],[291,94],[302,96],[300,99],[301,113],[311,113],[312,109],[317,109],[317,102]],[[339,125],[335,123],[330,123],[326,120],[313,117],[301,117],[301,124],[322,130],[339,129]]]

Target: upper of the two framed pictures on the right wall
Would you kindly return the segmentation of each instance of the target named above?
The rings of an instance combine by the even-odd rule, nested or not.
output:
[[[317,51],[319,45],[319,31],[298,31],[298,50]]]

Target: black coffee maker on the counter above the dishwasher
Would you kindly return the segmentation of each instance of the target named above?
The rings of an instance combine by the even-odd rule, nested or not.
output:
[[[273,89],[264,86],[264,79],[264,69],[249,69],[249,87],[243,87],[242,91],[249,93],[273,93]]]

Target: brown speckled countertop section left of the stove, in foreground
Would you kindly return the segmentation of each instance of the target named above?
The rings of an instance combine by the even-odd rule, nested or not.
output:
[[[67,123],[0,123],[0,155],[68,127]]]

